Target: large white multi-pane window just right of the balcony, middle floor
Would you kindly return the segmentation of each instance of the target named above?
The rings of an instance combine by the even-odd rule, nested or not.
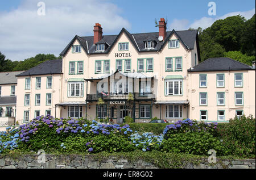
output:
[[[166,95],[182,95],[182,79],[166,80]]]

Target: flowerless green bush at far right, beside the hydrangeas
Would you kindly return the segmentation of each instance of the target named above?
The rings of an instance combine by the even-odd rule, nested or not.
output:
[[[245,115],[230,119],[225,127],[218,128],[220,136],[234,155],[255,157],[255,118]]]

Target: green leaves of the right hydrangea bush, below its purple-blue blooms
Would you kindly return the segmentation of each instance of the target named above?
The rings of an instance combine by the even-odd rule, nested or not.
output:
[[[220,139],[205,131],[172,134],[163,140],[162,146],[164,152],[207,155],[210,149],[214,149],[218,156],[225,154]]]

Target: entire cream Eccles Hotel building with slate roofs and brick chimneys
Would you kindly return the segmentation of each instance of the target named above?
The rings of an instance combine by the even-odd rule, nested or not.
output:
[[[114,123],[255,117],[255,68],[230,58],[199,64],[196,30],[166,31],[160,19],[158,32],[103,35],[98,23],[93,32],[76,35],[61,60],[16,75],[19,123],[46,114]]]

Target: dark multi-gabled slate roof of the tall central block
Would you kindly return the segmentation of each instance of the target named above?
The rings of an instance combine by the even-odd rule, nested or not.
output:
[[[134,45],[135,49],[138,52],[147,52],[147,51],[161,51],[164,47],[164,45],[168,42],[168,39],[170,39],[171,35],[175,34],[178,39],[180,39],[181,43],[187,48],[187,49],[193,49],[195,41],[198,44],[198,38],[197,38],[197,30],[186,30],[186,31],[167,31],[166,32],[166,38],[163,41],[158,40],[159,32],[148,32],[148,33],[140,33],[140,34],[130,34],[125,28],[122,28],[122,30],[119,32],[118,35],[106,35],[102,36],[101,42],[106,43],[109,45],[105,49],[104,52],[96,52],[96,45],[93,43],[93,36],[75,36],[71,42],[65,47],[65,49],[60,53],[60,56],[65,56],[68,52],[69,48],[71,48],[73,42],[77,39],[79,43],[81,44],[82,48],[86,52],[87,55],[89,54],[108,54],[109,51],[113,48],[114,44],[117,42],[118,38],[124,33],[128,39],[131,41],[131,44]],[[154,39],[156,41],[156,46],[154,49],[144,49],[144,41],[148,38]],[[97,44],[97,43],[96,43]],[[197,51],[199,51],[199,48],[197,48]],[[200,60],[200,58],[199,58]]]

